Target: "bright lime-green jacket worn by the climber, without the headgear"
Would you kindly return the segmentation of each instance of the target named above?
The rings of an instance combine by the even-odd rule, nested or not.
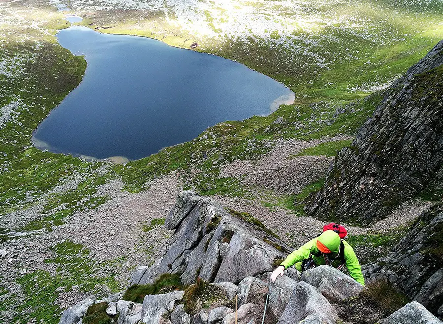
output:
[[[314,255],[314,254],[320,253],[320,251],[317,248],[317,244],[316,244],[317,239],[320,239],[320,237],[316,237],[316,238],[310,240],[305,245],[301,246],[298,250],[295,250],[294,252],[289,254],[288,257],[285,259],[285,261],[283,261],[280,265],[283,265],[285,267],[285,269],[287,269],[288,267],[299,263],[299,265],[296,267],[300,267],[301,262],[305,259],[308,259],[311,254],[313,255],[313,260],[316,265],[324,265],[325,261],[324,261],[323,255],[320,255],[319,257],[316,257]],[[338,238],[338,235],[337,235],[337,238]],[[326,237],[326,239],[328,239],[328,237]],[[329,242],[327,240],[326,240],[326,242],[324,242],[323,240],[320,240],[320,241],[330,248],[331,244],[328,245]],[[337,239],[334,237],[333,240],[334,240],[334,242],[332,242],[332,246],[334,248],[330,248],[332,253],[331,253],[331,256],[329,257],[329,259],[331,261],[334,258],[338,257],[338,250],[339,250],[338,248],[335,248],[335,246],[337,245]],[[348,244],[348,242],[346,242],[345,240],[342,240],[342,241],[343,241],[343,245],[345,246],[345,251],[344,251],[345,266],[348,268],[350,276],[352,278],[354,278],[360,284],[364,285],[365,279],[363,278],[363,274],[361,273],[361,266],[360,266],[360,263],[358,262],[357,256],[355,255],[354,250]],[[338,242],[339,242],[338,244],[340,246],[340,238],[338,238]],[[334,266],[335,268],[337,268],[340,265],[341,265],[340,260],[334,260],[332,262],[332,266]],[[300,270],[300,269],[301,269],[301,267],[298,270]]]

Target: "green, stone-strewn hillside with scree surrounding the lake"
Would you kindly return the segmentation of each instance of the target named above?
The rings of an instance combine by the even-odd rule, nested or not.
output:
[[[249,212],[289,246],[317,236],[324,221],[305,214],[305,198],[323,187],[336,151],[351,146],[383,105],[383,91],[441,41],[443,30],[438,0],[51,3],[0,3],[5,323],[58,323],[64,309],[87,296],[124,289],[138,265],[163,255],[173,231],[162,225],[183,189]],[[182,48],[197,43],[196,51],[237,60],[284,83],[295,102],[268,116],[210,126],[192,141],[126,164],[40,151],[32,132],[87,68],[84,57],[53,36],[70,26],[64,18],[73,13],[100,32]],[[415,80],[423,91],[427,82],[440,85]],[[402,196],[370,226],[345,224],[362,263],[387,256],[439,199],[441,171],[434,167],[427,178],[437,179],[437,191],[427,186],[422,195]]]

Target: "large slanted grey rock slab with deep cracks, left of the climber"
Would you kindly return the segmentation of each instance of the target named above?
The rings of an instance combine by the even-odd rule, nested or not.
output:
[[[168,221],[169,217],[175,220]],[[274,259],[291,251],[262,228],[192,191],[179,195],[168,218],[168,224],[177,224],[168,250],[150,268],[138,268],[131,284],[153,283],[163,273],[181,273],[184,284],[195,282],[197,276],[206,282],[237,284],[247,276],[272,271]]]

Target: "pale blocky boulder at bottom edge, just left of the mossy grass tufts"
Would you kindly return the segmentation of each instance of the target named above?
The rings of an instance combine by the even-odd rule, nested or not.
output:
[[[141,310],[142,321],[161,323],[165,312],[172,311],[178,301],[182,300],[184,293],[184,291],[173,291],[167,294],[146,295]]]

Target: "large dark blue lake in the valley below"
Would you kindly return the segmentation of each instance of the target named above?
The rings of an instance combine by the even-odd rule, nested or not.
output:
[[[84,54],[88,68],[35,131],[40,149],[140,159],[293,99],[288,88],[244,65],[156,40],[84,27],[63,29],[57,38]]]

